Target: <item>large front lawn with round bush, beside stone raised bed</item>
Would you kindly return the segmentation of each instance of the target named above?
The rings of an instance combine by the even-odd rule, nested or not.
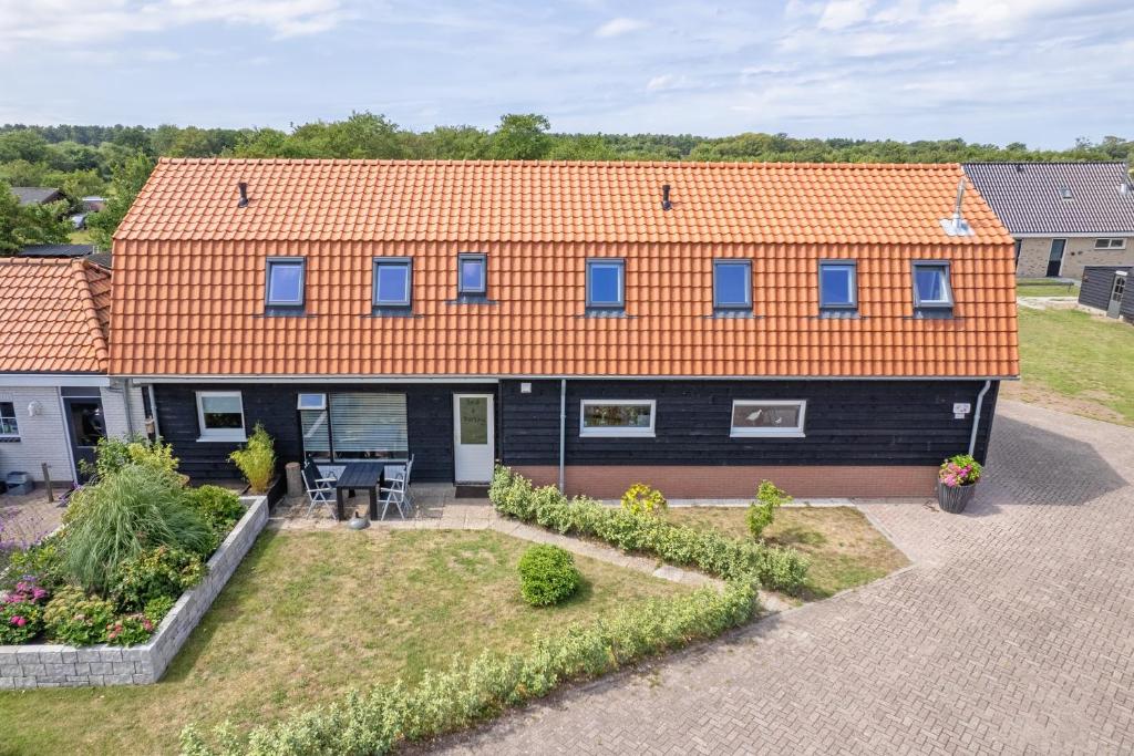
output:
[[[579,593],[519,596],[531,544],[493,532],[265,530],[155,686],[0,694],[0,754],[177,750],[188,722],[242,728],[682,586],[576,557]]]

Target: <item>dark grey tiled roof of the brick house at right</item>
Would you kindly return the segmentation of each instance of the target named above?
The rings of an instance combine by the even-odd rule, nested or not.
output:
[[[1125,163],[965,163],[964,168],[1014,235],[1134,232],[1134,188]],[[1125,194],[1119,192],[1124,185]]]

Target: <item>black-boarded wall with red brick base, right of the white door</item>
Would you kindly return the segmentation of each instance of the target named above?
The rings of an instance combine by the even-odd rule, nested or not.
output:
[[[502,461],[558,481],[559,381],[500,385]],[[743,498],[762,477],[801,496],[928,495],[941,459],[967,451],[982,381],[568,381],[569,493],[616,496],[643,481],[672,498]],[[999,384],[985,396],[976,456],[988,451]],[[582,438],[583,399],[653,399],[654,438]],[[802,439],[730,436],[734,399],[805,399]],[[665,485],[662,485],[665,483]]]

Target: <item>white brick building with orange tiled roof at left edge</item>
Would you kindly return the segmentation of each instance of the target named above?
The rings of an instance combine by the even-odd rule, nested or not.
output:
[[[0,478],[78,479],[107,434],[143,432],[142,394],[127,409],[107,377],[110,273],[82,260],[0,260]]]

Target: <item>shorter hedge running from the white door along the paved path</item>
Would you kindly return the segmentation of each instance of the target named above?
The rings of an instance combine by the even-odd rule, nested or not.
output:
[[[755,577],[768,588],[795,593],[807,576],[807,560],[794,549],[671,525],[650,515],[603,507],[586,496],[568,500],[555,486],[533,489],[531,481],[506,467],[498,467],[492,476],[489,499],[502,515],[562,534],[595,537],[623,551],[692,564],[726,580]]]

